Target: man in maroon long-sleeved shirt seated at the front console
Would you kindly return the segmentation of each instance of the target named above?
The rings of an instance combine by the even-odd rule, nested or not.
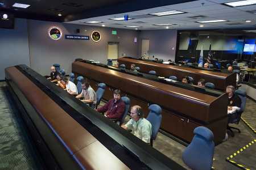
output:
[[[111,99],[103,107],[97,109],[100,113],[105,113],[105,116],[114,120],[120,120],[125,111],[125,103],[121,99],[121,91],[114,90],[114,99]]]

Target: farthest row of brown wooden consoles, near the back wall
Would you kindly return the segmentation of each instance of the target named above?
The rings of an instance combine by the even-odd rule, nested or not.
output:
[[[142,73],[148,73],[150,70],[156,71],[159,76],[169,77],[171,75],[177,76],[178,80],[181,80],[184,76],[192,76],[194,82],[198,82],[200,79],[205,79],[205,82],[215,84],[217,90],[225,91],[226,86],[232,85],[236,87],[236,74],[235,73],[220,73],[211,70],[200,70],[191,67],[166,65],[163,63],[156,63],[152,61],[142,61],[137,58],[122,57],[118,58],[119,65],[125,64],[130,68],[131,64],[135,64],[140,67]]]

